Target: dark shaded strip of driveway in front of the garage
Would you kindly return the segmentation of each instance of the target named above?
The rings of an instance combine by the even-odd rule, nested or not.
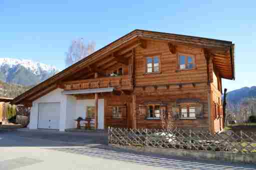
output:
[[[107,144],[107,132],[103,130],[88,132],[61,132],[56,130],[28,130],[0,132],[0,146],[59,146]],[[19,142],[17,142],[18,140]]]

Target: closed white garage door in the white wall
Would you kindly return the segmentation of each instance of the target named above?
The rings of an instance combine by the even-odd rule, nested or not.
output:
[[[38,104],[38,128],[59,129],[59,102]]]

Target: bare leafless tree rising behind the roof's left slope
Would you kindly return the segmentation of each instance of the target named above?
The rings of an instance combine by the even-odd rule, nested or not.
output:
[[[83,38],[72,40],[71,45],[68,47],[66,52],[66,66],[70,66],[80,59],[91,54],[95,50],[95,42],[90,41],[86,45],[83,42]]]

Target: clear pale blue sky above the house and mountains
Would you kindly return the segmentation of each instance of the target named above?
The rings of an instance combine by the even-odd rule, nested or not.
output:
[[[256,85],[255,10],[249,0],[0,0],[0,57],[62,69],[77,37],[98,49],[136,28],[202,36],[235,43],[236,80],[223,81],[232,90]]]

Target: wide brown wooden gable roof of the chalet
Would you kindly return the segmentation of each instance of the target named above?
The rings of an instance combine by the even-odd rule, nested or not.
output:
[[[44,90],[45,93],[47,93],[49,90],[55,89],[57,87],[56,84],[64,77],[70,76],[71,74],[81,69],[82,67],[95,63],[96,61],[102,59],[107,54],[117,51],[118,48],[123,47],[125,44],[130,43],[131,41],[136,41],[136,39],[138,38],[163,40],[175,45],[186,44],[186,45],[193,45],[200,48],[214,50],[214,55],[216,57],[223,57],[223,59],[230,58],[230,61],[226,62],[224,60],[225,62],[221,63],[221,64],[225,64],[228,70],[230,70],[227,73],[222,74],[221,76],[227,79],[234,79],[234,44],[232,44],[231,41],[135,29],[123,35],[122,37],[116,39],[115,41],[107,44],[106,46],[98,49],[97,51],[91,53],[87,57],[75,62],[74,64],[63,69],[57,74],[49,77],[45,81],[25,91],[24,93],[18,95],[12,100],[12,103],[17,104],[20,102],[24,102],[22,100],[24,100],[28,96],[35,95],[38,91]],[[226,53],[226,51],[228,52]],[[227,57],[227,55],[229,57]],[[220,74],[221,74],[222,67],[219,67],[218,69],[220,69]],[[26,102],[31,102],[31,101],[27,100]]]

